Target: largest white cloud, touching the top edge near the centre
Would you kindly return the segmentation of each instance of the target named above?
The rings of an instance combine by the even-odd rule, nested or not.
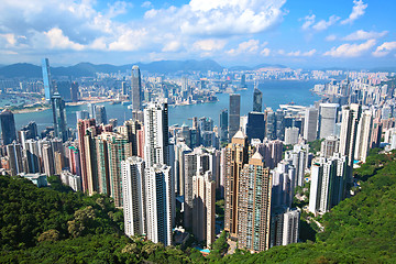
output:
[[[182,33],[230,35],[258,33],[278,24],[286,0],[191,0],[176,12]]]

